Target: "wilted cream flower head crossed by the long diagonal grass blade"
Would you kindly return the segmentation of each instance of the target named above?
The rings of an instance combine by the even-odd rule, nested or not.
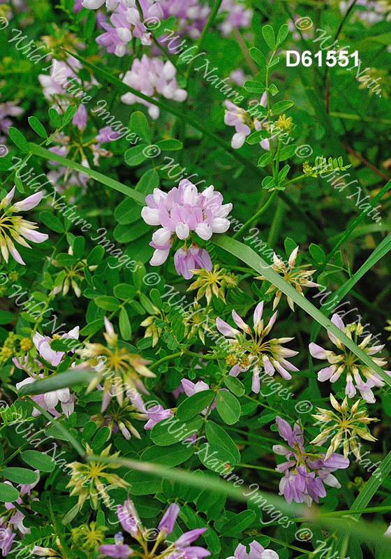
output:
[[[288,259],[288,266],[286,266],[286,264],[281,259],[279,259],[279,257],[274,252],[273,264],[272,266],[270,266],[270,268],[272,268],[276,273],[279,273],[279,275],[281,275],[283,279],[285,279],[285,281],[288,282],[288,284],[295,287],[296,291],[298,291],[302,296],[304,296],[302,287],[317,287],[318,284],[316,284],[315,282],[311,282],[308,279],[309,276],[315,273],[315,270],[304,270],[303,266],[295,266],[298,250],[299,247],[296,247],[290,253]],[[268,281],[267,278],[263,275],[256,277],[256,279],[262,279],[263,281]],[[274,291],[276,291],[276,296],[274,297],[274,301],[273,301],[273,310],[279,304],[282,291],[281,289],[278,289],[275,285],[272,285],[270,286],[269,289],[267,289],[265,293],[265,295],[267,295],[267,293],[274,293]],[[291,299],[288,296],[286,299],[288,301],[288,305],[294,311],[295,303],[293,302],[293,299]]]

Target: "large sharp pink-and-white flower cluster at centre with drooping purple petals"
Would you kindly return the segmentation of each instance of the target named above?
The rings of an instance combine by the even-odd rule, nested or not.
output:
[[[212,270],[212,261],[205,249],[196,245],[191,232],[203,240],[209,240],[213,233],[225,233],[230,222],[227,216],[232,204],[223,204],[223,196],[210,186],[202,192],[189,180],[179,182],[165,194],[154,189],[154,194],[145,198],[147,206],[142,208],[141,216],[149,225],[160,225],[152,235],[150,246],[155,252],[149,262],[152,266],[160,266],[166,261],[172,242],[175,238],[184,240],[174,256],[175,269],[185,279],[193,277],[191,270],[205,268]],[[189,246],[189,241],[191,244]]]

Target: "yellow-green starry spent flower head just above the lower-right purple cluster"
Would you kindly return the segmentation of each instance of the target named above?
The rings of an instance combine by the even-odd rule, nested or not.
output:
[[[367,441],[376,441],[377,439],[369,433],[367,423],[371,421],[379,421],[367,416],[365,409],[357,411],[361,400],[357,400],[352,407],[351,412],[348,411],[348,397],[339,404],[332,394],[330,394],[330,402],[332,407],[338,412],[336,414],[332,409],[323,409],[318,407],[318,414],[313,415],[322,426],[322,430],[318,437],[315,437],[312,444],[321,444],[332,436],[330,447],[326,452],[326,459],[330,458],[332,453],[343,445],[344,458],[348,458],[349,448],[353,454],[360,458],[360,449],[357,447],[356,438],[361,437]],[[324,425],[324,427],[323,427]],[[342,442],[343,441],[343,442]]]

